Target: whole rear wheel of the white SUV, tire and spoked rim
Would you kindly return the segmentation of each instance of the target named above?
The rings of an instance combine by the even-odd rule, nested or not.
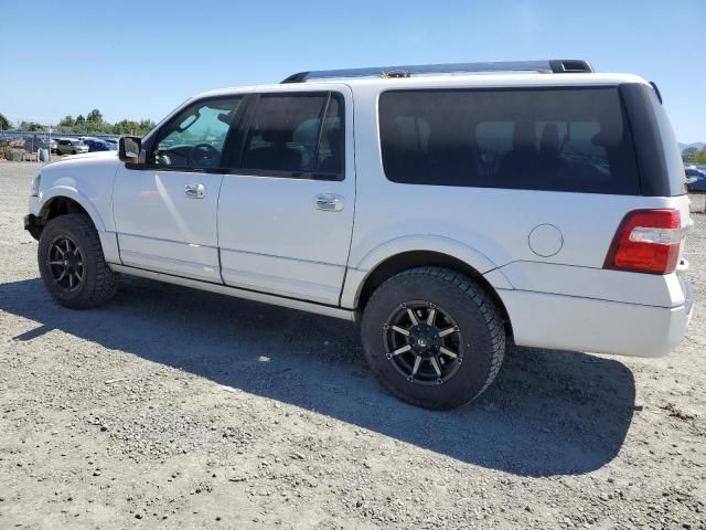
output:
[[[406,271],[381,285],[365,307],[362,339],[387,390],[438,410],[478,398],[505,351],[493,299],[469,277],[441,267]]]

